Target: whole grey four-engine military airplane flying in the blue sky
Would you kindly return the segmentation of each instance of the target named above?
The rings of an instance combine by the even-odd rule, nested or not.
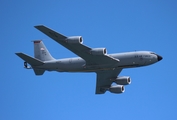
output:
[[[84,45],[82,36],[67,37],[44,25],[34,27],[79,57],[55,59],[42,40],[35,40],[34,58],[21,52],[15,53],[24,60],[24,67],[33,69],[36,75],[43,75],[45,71],[95,72],[95,94],[104,94],[106,91],[123,93],[124,85],[131,83],[129,76],[118,76],[123,69],[147,66],[163,59],[151,51],[107,54],[106,48],[90,48]]]

